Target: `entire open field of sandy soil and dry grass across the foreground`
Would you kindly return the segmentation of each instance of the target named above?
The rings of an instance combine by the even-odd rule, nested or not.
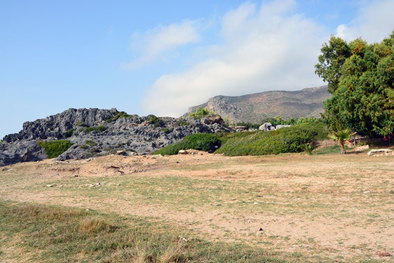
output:
[[[385,262],[394,160],[106,156],[0,170],[0,262]]]

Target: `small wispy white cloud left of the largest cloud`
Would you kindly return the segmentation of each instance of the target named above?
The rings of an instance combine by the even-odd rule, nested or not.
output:
[[[169,26],[159,26],[144,34],[135,33],[131,37],[132,51],[138,56],[129,63],[123,63],[122,68],[136,69],[150,63],[166,51],[188,43],[197,42],[198,22],[186,20]]]

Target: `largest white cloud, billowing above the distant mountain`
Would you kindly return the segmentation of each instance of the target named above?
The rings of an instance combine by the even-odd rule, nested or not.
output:
[[[314,65],[327,33],[311,20],[287,15],[295,2],[244,3],[222,19],[224,43],[209,59],[181,73],[162,75],[146,94],[147,113],[179,116],[216,95],[296,90],[323,82]]]

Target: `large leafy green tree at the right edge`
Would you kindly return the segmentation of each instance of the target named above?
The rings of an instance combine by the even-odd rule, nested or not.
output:
[[[394,32],[373,44],[331,37],[315,69],[332,94],[323,116],[332,130],[347,128],[369,137],[394,134]]]

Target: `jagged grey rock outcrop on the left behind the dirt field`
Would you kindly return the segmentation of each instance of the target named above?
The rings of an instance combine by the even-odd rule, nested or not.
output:
[[[57,159],[83,159],[123,151],[149,154],[194,133],[229,131],[222,119],[181,119],[137,116],[116,109],[68,109],[28,121],[0,145],[0,166],[47,158],[38,141],[67,139],[73,145]]]

